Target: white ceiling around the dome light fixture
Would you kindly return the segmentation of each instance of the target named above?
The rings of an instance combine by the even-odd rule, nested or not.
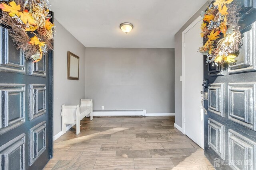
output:
[[[54,17],[85,47],[119,48],[173,48],[174,34],[205,2],[50,0]],[[122,22],[134,29],[125,34]]]

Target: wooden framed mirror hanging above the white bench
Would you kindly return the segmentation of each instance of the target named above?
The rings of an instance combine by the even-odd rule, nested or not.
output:
[[[68,51],[68,79],[79,80],[79,57]]]

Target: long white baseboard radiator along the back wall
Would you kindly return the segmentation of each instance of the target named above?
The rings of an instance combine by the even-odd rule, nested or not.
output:
[[[93,116],[146,116],[146,110],[93,110]]]

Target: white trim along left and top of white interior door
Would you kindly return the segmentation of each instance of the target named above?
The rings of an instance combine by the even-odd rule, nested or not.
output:
[[[202,20],[202,17],[199,16],[194,20],[184,31],[182,31],[182,133],[185,134],[185,33],[188,32],[192,27],[194,27],[198,22]],[[198,47],[199,48],[199,47]]]

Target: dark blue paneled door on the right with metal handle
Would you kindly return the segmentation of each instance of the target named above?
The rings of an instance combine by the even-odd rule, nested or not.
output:
[[[237,62],[204,66],[204,153],[217,170],[256,169],[256,0],[236,2],[243,39]]]

